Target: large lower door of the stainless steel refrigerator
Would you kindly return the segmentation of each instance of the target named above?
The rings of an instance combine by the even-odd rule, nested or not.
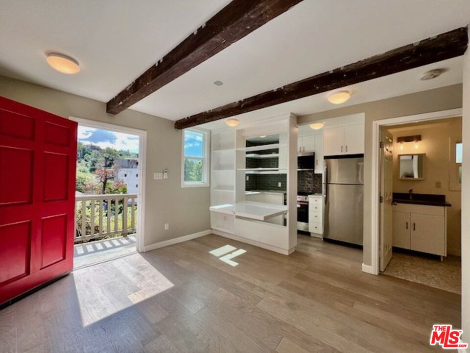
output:
[[[324,238],[362,245],[363,192],[363,185],[328,185]]]

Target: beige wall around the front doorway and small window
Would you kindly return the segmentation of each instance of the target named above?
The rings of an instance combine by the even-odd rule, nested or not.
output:
[[[127,109],[106,114],[106,104],[0,76],[0,96],[67,118],[91,119],[147,131],[145,245],[210,229],[210,191],[181,188],[181,130],[170,120]],[[154,180],[168,169],[169,177]],[[164,230],[164,223],[170,224]]]

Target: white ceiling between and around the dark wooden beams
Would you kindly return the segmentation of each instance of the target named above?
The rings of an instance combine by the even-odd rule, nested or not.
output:
[[[228,2],[0,0],[0,75],[108,101]],[[304,0],[132,109],[177,120],[469,21],[469,0]],[[47,50],[71,55],[82,71],[74,76],[53,71]],[[378,85],[354,85],[357,95],[348,104],[461,82],[459,59],[442,65],[450,70],[428,83],[416,81],[423,70],[415,69],[379,78]],[[215,80],[224,85],[213,85]],[[332,108],[320,108],[317,96],[266,111],[306,114]]]

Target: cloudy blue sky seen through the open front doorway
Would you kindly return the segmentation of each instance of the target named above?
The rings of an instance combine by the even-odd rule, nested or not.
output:
[[[78,126],[78,142],[102,149],[111,147],[118,151],[139,152],[139,136],[88,126]]]

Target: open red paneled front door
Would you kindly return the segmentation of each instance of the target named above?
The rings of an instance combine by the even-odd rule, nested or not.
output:
[[[76,136],[0,97],[0,304],[72,269]]]

